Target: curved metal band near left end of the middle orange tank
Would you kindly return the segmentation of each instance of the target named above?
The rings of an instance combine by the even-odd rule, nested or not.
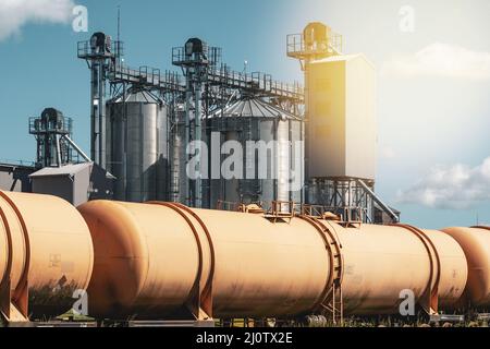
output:
[[[193,290],[199,286],[200,279],[203,277],[203,264],[204,264],[203,244],[200,243],[199,233],[197,232],[196,227],[193,225],[193,222],[191,221],[191,219],[187,217],[186,214],[189,214],[193,218],[195,218],[198,221],[198,224],[201,226],[203,230],[205,231],[206,237],[208,239],[209,248],[210,248],[211,265],[209,267],[209,277],[206,280],[206,285],[205,285],[203,291],[200,292],[199,298],[203,298],[203,299],[209,301],[209,304],[207,304],[209,306],[207,306],[208,309],[206,309],[205,311],[207,312],[207,315],[212,317],[212,279],[213,279],[213,275],[215,275],[215,249],[212,245],[211,236],[209,233],[208,228],[206,227],[204,221],[193,210],[191,210],[185,205],[177,204],[177,203],[163,203],[163,202],[149,202],[148,204],[164,206],[164,207],[171,208],[172,210],[176,212],[181,217],[183,217],[185,219],[185,221],[189,226],[191,230],[193,231],[194,237],[196,239],[197,248],[199,251],[198,277],[195,280]]]

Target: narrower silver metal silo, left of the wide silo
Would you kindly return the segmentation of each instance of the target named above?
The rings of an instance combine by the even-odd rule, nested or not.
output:
[[[168,200],[167,105],[146,91],[107,103],[107,164],[114,198]]]

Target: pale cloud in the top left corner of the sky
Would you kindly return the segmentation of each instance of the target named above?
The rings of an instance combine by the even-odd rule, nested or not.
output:
[[[35,23],[68,23],[75,4],[72,0],[0,0],[0,40]]]

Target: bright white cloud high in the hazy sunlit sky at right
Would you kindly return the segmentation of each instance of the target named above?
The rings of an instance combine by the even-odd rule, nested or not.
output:
[[[384,74],[397,76],[436,75],[467,80],[490,80],[490,52],[436,43],[415,55],[384,63]]]

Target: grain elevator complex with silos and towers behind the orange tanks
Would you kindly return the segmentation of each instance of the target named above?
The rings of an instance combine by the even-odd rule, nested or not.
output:
[[[85,161],[107,172],[97,183],[73,181],[82,188],[69,192],[86,192],[87,201],[231,210],[255,204],[331,212],[353,222],[399,221],[400,213],[375,193],[375,67],[362,53],[343,55],[342,37],[328,26],[311,23],[287,36],[287,56],[301,62],[304,87],[235,72],[222,62],[221,48],[199,38],[172,49],[182,75],[132,69],[124,48],[103,33],[77,46],[90,71],[90,156],[72,141],[72,121],[61,111],[47,108],[29,120],[37,170]],[[241,145],[240,154],[230,144]],[[61,180],[58,171],[33,181],[51,172]],[[39,186],[35,192],[49,194]],[[72,196],[62,195],[81,203]]]

